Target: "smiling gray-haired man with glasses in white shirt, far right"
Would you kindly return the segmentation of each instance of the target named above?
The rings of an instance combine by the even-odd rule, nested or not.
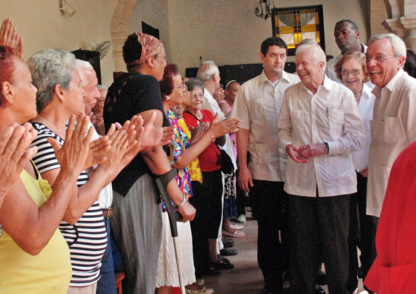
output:
[[[370,121],[367,214],[374,216],[377,224],[392,165],[416,140],[416,79],[402,69],[406,45],[397,35],[371,37],[365,60],[370,80],[376,85],[372,91],[376,101]]]

